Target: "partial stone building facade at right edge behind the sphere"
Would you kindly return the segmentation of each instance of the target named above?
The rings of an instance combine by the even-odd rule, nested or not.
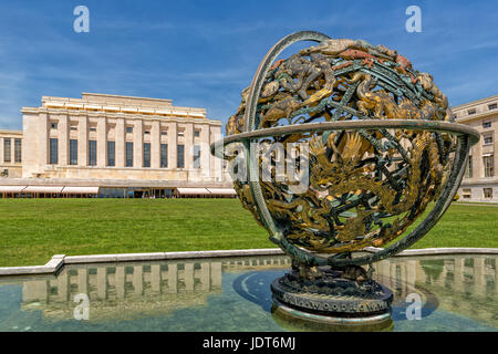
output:
[[[498,95],[452,107],[457,123],[480,133],[470,149],[464,179],[458,188],[460,201],[498,202]]]

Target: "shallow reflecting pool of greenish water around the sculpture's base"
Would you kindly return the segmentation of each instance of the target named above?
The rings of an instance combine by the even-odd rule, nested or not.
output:
[[[375,280],[394,293],[388,330],[497,331],[497,260],[375,263]],[[0,278],[0,331],[310,330],[271,313],[270,283],[289,268],[289,258],[271,256],[72,264],[56,275]]]

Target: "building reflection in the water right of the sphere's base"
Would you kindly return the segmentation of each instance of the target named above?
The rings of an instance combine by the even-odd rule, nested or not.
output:
[[[439,306],[498,327],[496,256],[392,258],[374,264],[374,278],[394,293],[393,320],[406,320],[405,302],[416,292],[426,300],[422,316]]]

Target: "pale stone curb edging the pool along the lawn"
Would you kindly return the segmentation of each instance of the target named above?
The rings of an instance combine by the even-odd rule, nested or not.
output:
[[[381,248],[366,247],[365,252],[375,253]],[[92,256],[65,256],[55,254],[44,266],[28,267],[0,267],[1,275],[25,275],[25,274],[52,274],[64,264],[85,263],[117,263],[129,261],[155,261],[173,259],[203,259],[243,256],[283,256],[279,248],[248,249],[248,250],[219,250],[219,251],[187,251],[187,252],[154,252],[154,253],[121,253],[121,254],[92,254]],[[426,248],[416,250],[404,250],[393,257],[414,256],[443,256],[443,254],[498,254],[498,248]]]

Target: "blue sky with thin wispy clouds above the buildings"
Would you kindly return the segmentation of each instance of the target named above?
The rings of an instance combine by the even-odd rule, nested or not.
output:
[[[73,10],[90,9],[90,33]],[[408,33],[405,10],[422,10]],[[317,30],[397,49],[450,105],[498,93],[498,1],[14,1],[0,4],[0,128],[42,95],[172,98],[224,123],[269,48]]]

